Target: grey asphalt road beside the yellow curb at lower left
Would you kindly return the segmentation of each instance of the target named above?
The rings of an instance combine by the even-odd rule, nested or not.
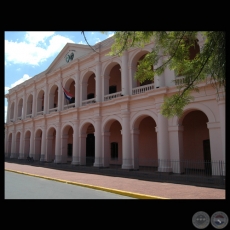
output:
[[[5,199],[135,199],[5,171]]]

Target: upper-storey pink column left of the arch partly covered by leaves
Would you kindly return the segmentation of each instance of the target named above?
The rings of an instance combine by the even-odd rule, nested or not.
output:
[[[121,84],[122,84],[122,94],[130,95],[129,92],[129,75],[128,75],[128,52],[124,51],[123,56],[121,57]]]

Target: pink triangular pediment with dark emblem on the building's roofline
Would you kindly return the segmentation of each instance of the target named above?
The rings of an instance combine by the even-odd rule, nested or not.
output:
[[[73,60],[81,58],[90,52],[92,52],[92,49],[88,45],[67,43],[48,67],[46,73],[48,74],[59,69],[60,67],[67,66]]]

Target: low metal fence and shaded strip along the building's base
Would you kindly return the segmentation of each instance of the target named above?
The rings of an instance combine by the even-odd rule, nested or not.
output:
[[[121,163],[119,159],[110,161],[110,159],[86,157],[83,161],[75,159],[79,162],[75,165],[68,160],[66,163],[54,163],[29,161],[14,156],[16,155],[5,155],[5,161],[74,172],[225,189],[224,161],[122,159]],[[81,162],[84,164],[80,165]]]

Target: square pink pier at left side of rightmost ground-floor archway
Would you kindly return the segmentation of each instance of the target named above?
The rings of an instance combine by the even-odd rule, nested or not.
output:
[[[184,172],[183,168],[183,131],[181,125],[170,126],[169,131],[169,149],[170,159],[172,161],[173,173]]]

